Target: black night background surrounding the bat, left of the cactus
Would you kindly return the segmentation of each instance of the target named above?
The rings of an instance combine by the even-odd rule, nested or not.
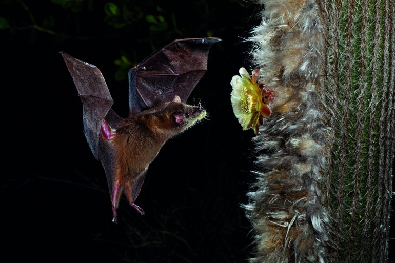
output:
[[[1,261],[246,261],[253,234],[240,204],[254,181],[253,132],[232,113],[229,82],[240,67],[250,70],[243,39],[260,9],[242,0],[0,1],[0,236],[9,256]],[[169,140],[151,164],[136,201],[146,215],[123,199],[113,224],[105,174],[58,52],[100,68],[114,110],[126,116],[129,68],[173,39],[207,36],[223,41],[189,102],[201,100],[208,119]]]

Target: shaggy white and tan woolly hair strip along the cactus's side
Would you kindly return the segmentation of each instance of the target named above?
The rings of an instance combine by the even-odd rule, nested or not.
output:
[[[257,1],[250,40],[260,82],[274,90],[256,143],[256,183],[244,205],[255,231],[250,262],[326,262],[329,216],[321,183],[330,129],[324,124],[324,25],[313,0]]]

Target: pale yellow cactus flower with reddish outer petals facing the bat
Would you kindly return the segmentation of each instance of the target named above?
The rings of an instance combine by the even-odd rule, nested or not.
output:
[[[253,70],[252,76],[245,68],[240,68],[239,73],[240,76],[233,76],[230,82],[233,88],[230,93],[233,112],[243,130],[253,129],[258,134],[263,117],[271,115],[267,103],[272,99],[273,91],[266,91],[263,83],[258,84],[259,69]]]

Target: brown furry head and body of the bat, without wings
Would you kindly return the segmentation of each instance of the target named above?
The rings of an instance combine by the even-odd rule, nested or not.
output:
[[[183,112],[184,119],[177,123],[174,114]],[[118,206],[122,193],[125,193],[132,205],[140,193],[145,172],[151,161],[169,138],[188,129],[205,116],[199,106],[183,104],[176,99],[173,102],[143,111],[125,119],[116,130],[111,143],[116,149],[115,185],[119,185],[113,207]]]

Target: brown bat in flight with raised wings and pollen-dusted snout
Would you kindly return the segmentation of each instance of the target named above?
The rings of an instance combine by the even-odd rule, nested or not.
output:
[[[219,38],[175,40],[129,71],[129,116],[112,109],[113,100],[100,70],[61,52],[83,104],[84,133],[100,160],[110,191],[113,222],[124,194],[134,202],[139,196],[152,160],[171,137],[203,119],[203,107],[186,104],[207,71],[210,47]]]

